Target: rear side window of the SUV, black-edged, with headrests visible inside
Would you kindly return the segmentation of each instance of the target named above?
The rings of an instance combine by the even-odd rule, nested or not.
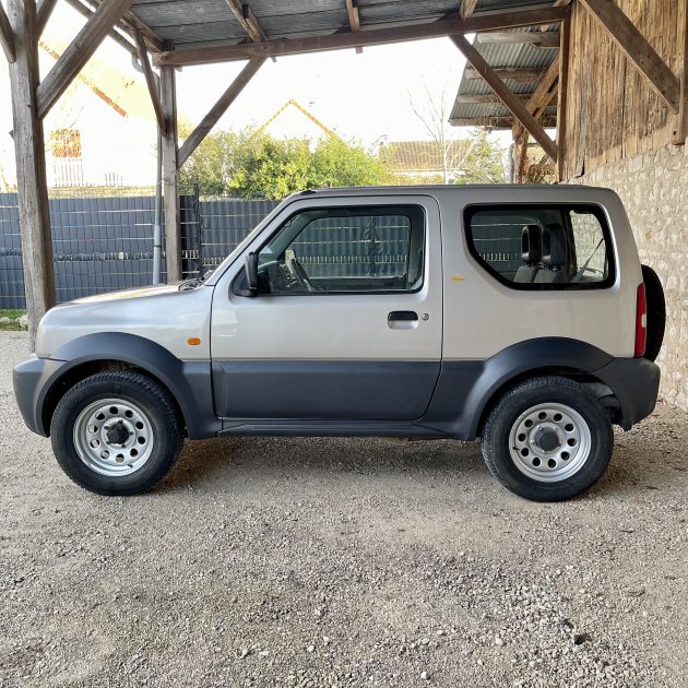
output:
[[[513,204],[465,211],[468,249],[517,289],[590,289],[614,283],[606,218],[596,205]]]

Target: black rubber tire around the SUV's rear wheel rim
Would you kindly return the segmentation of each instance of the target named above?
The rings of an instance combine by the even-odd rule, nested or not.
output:
[[[556,477],[554,474],[547,476],[545,465],[543,464],[539,468],[539,463],[537,464],[538,468],[534,468],[533,473],[541,470],[547,479],[553,479],[553,482],[534,479],[526,475],[523,468],[518,467],[515,459],[511,455],[510,437],[512,430],[514,430],[513,437],[515,438],[517,430],[514,428],[523,418],[523,414],[541,404],[555,404],[557,407],[564,406],[572,410],[586,424],[589,430],[589,451],[581,453],[580,458],[576,459],[577,462],[582,462],[580,467],[564,479],[553,479],[553,476]],[[560,414],[554,414],[551,416],[553,425],[555,415],[559,416],[559,420],[561,420]],[[546,425],[546,422],[543,422],[543,425]],[[543,429],[539,430],[539,432],[543,431]],[[586,432],[586,430],[584,431]],[[536,432],[535,427],[532,432]],[[521,440],[524,435],[518,435],[518,438]],[[524,440],[524,446],[530,446],[529,442],[536,441],[536,439],[535,436],[531,438],[529,435],[527,440]],[[509,490],[533,501],[561,501],[588,489],[604,474],[614,450],[614,434],[609,414],[595,396],[573,380],[551,376],[523,382],[501,398],[485,424],[482,448],[489,472]],[[542,451],[537,444],[535,448],[537,451]],[[567,449],[562,444],[560,448]],[[525,451],[524,456],[529,455],[527,449],[523,449],[523,451]],[[559,450],[554,451],[558,452]],[[517,446],[514,446],[514,452],[517,452]],[[567,452],[561,453],[561,456],[565,453]],[[534,456],[533,462],[539,461],[534,454],[531,455]],[[571,456],[569,460],[572,461],[573,458]],[[558,455],[553,456],[553,459],[558,460],[558,463],[557,461],[554,462],[557,468],[562,466],[562,471],[568,470],[567,463],[561,462]],[[527,461],[529,459],[523,459],[521,465],[523,466]],[[569,464],[569,466],[572,465]],[[554,468],[555,466],[553,466]]]

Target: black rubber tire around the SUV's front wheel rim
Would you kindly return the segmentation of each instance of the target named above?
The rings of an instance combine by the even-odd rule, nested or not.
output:
[[[152,447],[145,462],[128,475],[104,475],[82,460],[74,435],[80,414],[98,400],[134,404],[149,422]],[[107,419],[104,420],[107,423]],[[166,389],[139,372],[106,371],[82,380],[60,400],[50,424],[58,463],[78,485],[98,495],[137,495],[152,488],[175,464],[183,435]],[[137,438],[138,439],[138,438]]]

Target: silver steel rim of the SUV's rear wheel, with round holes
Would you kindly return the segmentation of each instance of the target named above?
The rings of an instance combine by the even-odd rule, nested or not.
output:
[[[522,413],[509,432],[515,467],[538,483],[566,481],[590,456],[592,435],[580,413],[565,404],[537,404]]]

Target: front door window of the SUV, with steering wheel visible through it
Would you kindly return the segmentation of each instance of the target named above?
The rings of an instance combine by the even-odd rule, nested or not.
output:
[[[260,250],[263,294],[415,292],[425,215],[413,205],[331,207],[289,217]]]

